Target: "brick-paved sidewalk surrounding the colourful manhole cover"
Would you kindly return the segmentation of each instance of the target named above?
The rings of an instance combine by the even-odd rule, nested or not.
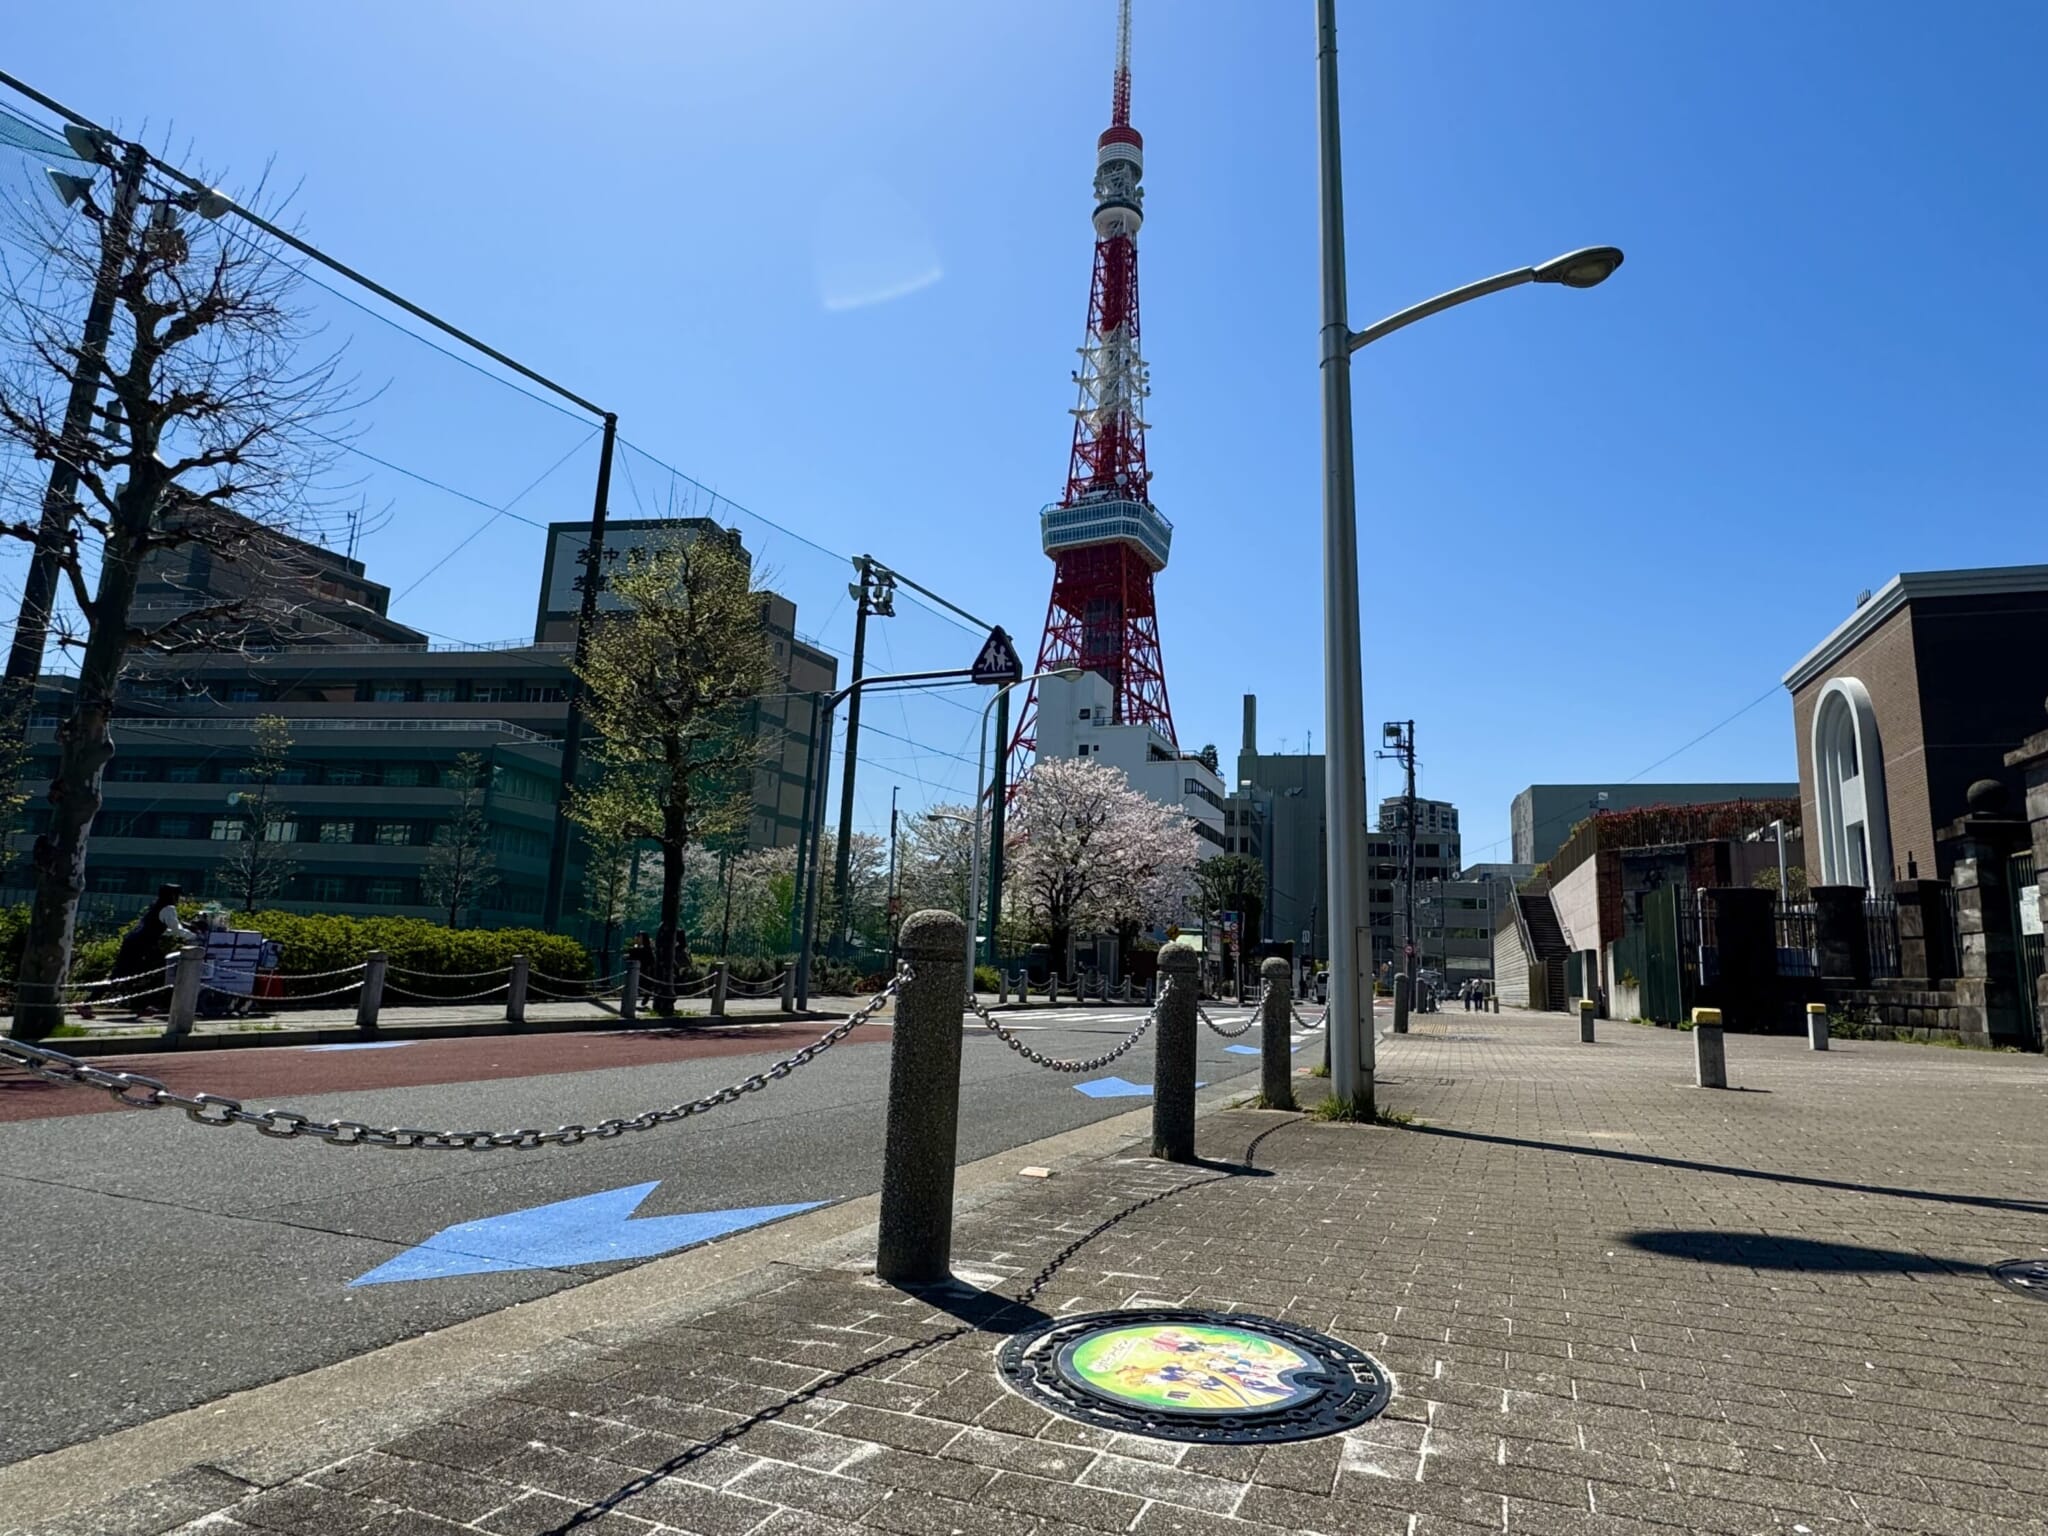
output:
[[[944,1311],[831,1253],[772,1266],[291,1483],[211,1473],[215,1513],[184,1528],[2048,1532],[2048,1305],[1982,1270],[2048,1253],[2048,1063],[1731,1036],[1724,1094],[1690,1065],[1667,1030],[1417,1020],[1380,1042],[1413,1126],[1225,1112],[1212,1167],[1126,1153],[999,1186],[956,1268],[1022,1300]],[[1147,1303],[1346,1337],[1393,1405],[1217,1448],[997,1382],[1008,1331]]]

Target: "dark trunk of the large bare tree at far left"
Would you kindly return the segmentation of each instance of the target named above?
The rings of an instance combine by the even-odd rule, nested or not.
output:
[[[47,1038],[63,1022],[63,981],[78,938],[78,899],[86,891],[86,838],[100,813],[100,776],[115,756],[115,682],[127,655],[127,612],[141,571],[135,524],[147,528],[158,487],[133,479],[121,494],[121,520],[100,559],[100,586],[86,651],[78,666],[72,717],[57,727],[57,772],[49,780],[49,831],[35,840],[35,905],[20,950],[14,1034]],[[131,500],[139,506],[131,512]],[[139,514],[139,516],[137,516]]]

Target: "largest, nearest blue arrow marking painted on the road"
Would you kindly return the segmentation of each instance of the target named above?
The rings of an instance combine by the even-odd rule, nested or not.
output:
[[[418,1247],[379,1264],[348,1284],[383,1286],[393,1280],[444,1280],[457,1274],[649,1260],[655,1253],[707,1243],[725,1233],[760,1227],[764,1221],[778,1221],[825,1204],[823,1200],[805,1200],[788,1206],[692,1210],[678,1217],[635,1221],[633,1212],[639,1210],[641,1200],[653,1194],[655,1184],[659,1180],[442,1227]]]

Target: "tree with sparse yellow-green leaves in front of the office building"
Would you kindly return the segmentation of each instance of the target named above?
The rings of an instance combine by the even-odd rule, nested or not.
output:
[[[743,836],[760,748],[750,700],[774,682],[762,594],[737,535],[678,532],[608,580],[618,610],[578,666],[602,764],[598,799],[621,834],[662,850],[655,1004],[674,1008],[692,842]],[[578,793],[569,813],[590,825]],[[686,956],[688,950],[682,948]]]

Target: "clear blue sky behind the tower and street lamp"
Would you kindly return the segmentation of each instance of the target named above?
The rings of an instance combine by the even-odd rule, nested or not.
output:
[[[1860,588],[2048,557],[2048,10],[1350,0],[1339,27],[1354,326],[1628,252],[1599,291],[1520,289],[1360,354],[1366,711],[1417,719],[1468,858],[1505,858],[1522,784],[1638,774],[1759,696],[1645,776],[1790,778],[1769,690]],[[12,16],[0,66],[223,184],[268,162],[309,238],[729,498],[844,651],[858,551],[1036,641],[1112,29],[1114,0],[123,0]],[[1323,739],[1311,6],[1137,0],[1133,55],[1174,715],[1229,758],[1255,690],[1264,745],[1300,750]],[[489,506],[569,455],[518,510],[588,516],[586,426],[313,301],[383,391],[367,451]],[[614,514],[707,506],[625,469]],[[487,512],[362,473],[399,618],[530,631],[535,528],[426,575]],[[915,608],[874,631],[877,668],[971,651]],[[868,711],[909,741],[868,737],[862,825],[891,786],[965,793],[971,707]]]

